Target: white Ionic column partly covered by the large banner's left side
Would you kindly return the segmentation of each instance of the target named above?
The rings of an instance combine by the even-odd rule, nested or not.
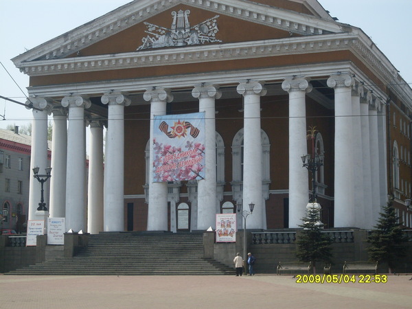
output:
[[[150,102],[150,165],[153,162],[153,122],[155,116],[166,114],[167,102],[172,102],[173,95],[168,89],[150,88],[143,95]],[[154,183],[153,171],[149,177],[148,231],[168,230],[168,183]]]

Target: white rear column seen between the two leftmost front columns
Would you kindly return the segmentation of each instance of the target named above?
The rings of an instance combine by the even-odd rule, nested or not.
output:
[[[54,106],[52,132],[52,172],[50,217],[66,216],[67,108]]]

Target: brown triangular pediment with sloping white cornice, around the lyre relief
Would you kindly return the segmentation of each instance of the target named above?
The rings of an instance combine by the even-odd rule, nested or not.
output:
[[[204,42],[192,44],[193,46],[342,32],[339,25],[326,19],[249,1],[135,0],[43,43],[15,57],[13,61],[16,67],[24,67],[27,62],[34,61],[56,62],[58,59],[72,57],[138,53],[144,50],[139,49],[143,44],[142,39],[150,35],[154,36],[154,30],[155,32],[159,29],[170,30],[173,22],[172,14],[179,11],[190,11],[187,20],[191,26],[203,25],[200,34],[206,31],[204,22],[216,18],[216,40],[211,40],[211,36],[208,36]],[[153,27],[148,28],[148,24]],[[157,45],[158,48],[159,46]],[[160,46],[160,48],[177,49],[183,46],[185,45]],[[25,73],[30,72],[26,70]]]

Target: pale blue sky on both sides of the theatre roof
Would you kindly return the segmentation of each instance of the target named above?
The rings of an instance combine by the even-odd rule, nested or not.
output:
[[[0,95],[23,103],[27,95],[29,78],[10,59],[130,1],[0,0],[0,62],[7,69],[0,65]],[[360,27],[370,36],[412,86],[412,0],[319,2],[339,22]],[[0,128],[25,126],[30,119],[32,112],[25,106],[0,99]]]

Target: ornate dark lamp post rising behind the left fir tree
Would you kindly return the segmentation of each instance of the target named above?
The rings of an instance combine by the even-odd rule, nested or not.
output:
[[[321,166],[323,165],[323,155],[319,155],[315,152],[314,142],[315,142],[317,133],[318,133],[318,130],[316,130],[315,126],[309,127],[307,138],[312,139],[312,154],[303,155],[301,159],[302,159],[302,162],[304,163],[303,167],[307,168],[310,174],[312,175],[312,196],[310,196],[309,203],[306,206],[306,208],[310,207],[310,208],[317,209],[318,211],[320,211],[321,205],[317,203],[316,173],[319,170],[319,168],[321,168]],[[319,213],[319,224],[322,225],[322,223],[320,222],[320,213]]]

